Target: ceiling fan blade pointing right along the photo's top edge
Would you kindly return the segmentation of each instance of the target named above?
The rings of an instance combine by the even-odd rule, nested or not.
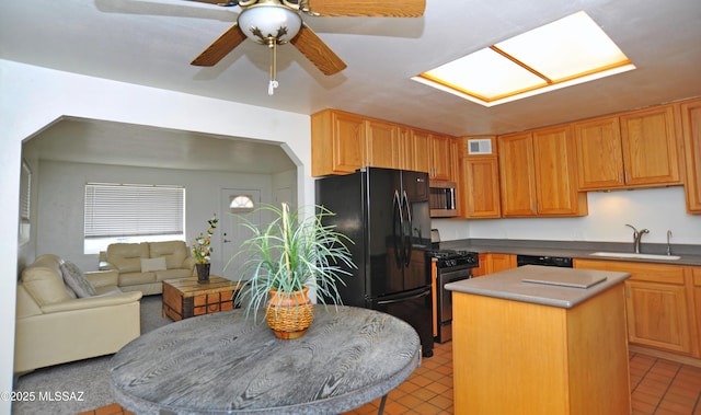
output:
[[[308,0],[307,5],[322,16],[421,18],[426,0]]]

